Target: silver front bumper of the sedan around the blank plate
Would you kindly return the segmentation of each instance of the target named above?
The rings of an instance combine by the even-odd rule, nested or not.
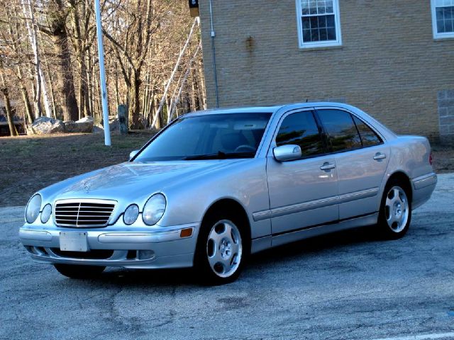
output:
[[[183,229],[192,229],[191,236],[182,237]],[[87,233],[88,251],[60,250],[60,232]],[[26,224],[19,229],[19,238],[32,259],[43,263],[183,268],[193,265],[198,233],[199,223],[92,229]]]

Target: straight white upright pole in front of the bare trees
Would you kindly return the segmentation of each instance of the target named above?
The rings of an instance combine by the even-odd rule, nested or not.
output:
[[[104,69],[104,46],[102,43],[101,6],[99,0],[94,0],[94,13],[96,14],[96,33],[98,38],[99,74],[101,82],[102,117],[104,120],[104,144],[111,145],[111,132],[109,130],[109,106],[107,106],[106,70]]]

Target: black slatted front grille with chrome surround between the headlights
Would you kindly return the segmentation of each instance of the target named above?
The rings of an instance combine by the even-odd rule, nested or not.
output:
[[[115,208],[111,200],[70,200],[55,203],[55,224],[60,227],[104,227]]]

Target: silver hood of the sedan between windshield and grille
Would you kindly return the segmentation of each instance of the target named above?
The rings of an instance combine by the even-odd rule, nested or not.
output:
[[[70,198],[99,198],[140,203],[167,186],[205,176],[245,159],[175,162],[126,162],[92,171],[53,186],[40,193],[48,201]]]

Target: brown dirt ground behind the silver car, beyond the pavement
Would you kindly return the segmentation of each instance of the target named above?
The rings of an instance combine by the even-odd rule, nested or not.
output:
[[[0,207],[26,205],[35,191],[87,171],[125,162],[155,132],[112,135],[104,146],[102,134],[0,137]],[[454,172],[454,146],[433,145],[437,174]]]

